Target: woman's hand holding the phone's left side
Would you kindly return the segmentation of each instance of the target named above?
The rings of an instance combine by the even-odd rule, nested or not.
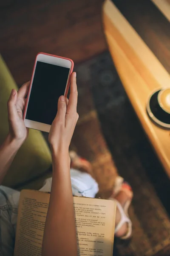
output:
[[[26,95],[30,81],[18,90],[12,89],[11,95],[8,99],[8,123],[9,123],[9,134],[10,140],[15,140],[17,143],[22,143],[28,137],[28,128],[23,121],[23,111],[26,105]]]

